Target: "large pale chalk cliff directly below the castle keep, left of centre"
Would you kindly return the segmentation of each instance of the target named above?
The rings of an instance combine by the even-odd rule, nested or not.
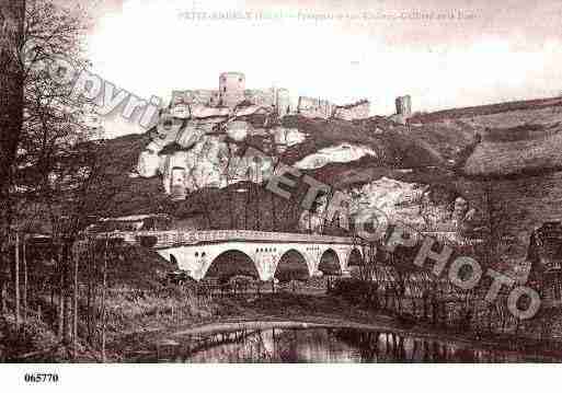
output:
[[[205,187],[267,180],[274,169],[273,158],[238,157],[236,143],[227,143],[223,135],[213,135],[217,123],[217,118],[186,120],[162,116],[139,155],[138,175],[161,175],[165,193],[177,199]],[[236,120],[227,125],[226,131],[233,141],[243,141],[252,126]]]

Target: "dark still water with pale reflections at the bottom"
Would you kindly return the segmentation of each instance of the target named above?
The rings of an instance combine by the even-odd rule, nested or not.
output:
[[[535,362],[534,354],[473,348],[394,333],[273,328],[192,337],[162,345],[145,361],[168,362]]]

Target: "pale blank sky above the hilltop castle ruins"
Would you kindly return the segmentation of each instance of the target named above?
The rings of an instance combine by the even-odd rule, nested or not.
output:
[[[96,0],[91,14],[94,71],[145,99],[217,89],[222,71],[294,99],[366,97],[374,115],[403,94],[435,111],[562,92],[559,0]]]

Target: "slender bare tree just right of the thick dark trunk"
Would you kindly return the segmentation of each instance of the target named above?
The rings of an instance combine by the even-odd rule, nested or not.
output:
[[[88,65],[80,41],[85,31],[80,11],[49,0],[30,1],[25,21],[24,122],[18,157],[18,199],[22,215],[30,204],[43,206],[54,246],[58,250],[58,331],[71,339],[70,287],[72,244],[83,226],[84,189],[92,184],[91,160],[98,130],[85,124],[91,104],[71,99],[71,85],[61,83],[61,59],[76,69]],[[76,307],[76,305],[74,305]]]

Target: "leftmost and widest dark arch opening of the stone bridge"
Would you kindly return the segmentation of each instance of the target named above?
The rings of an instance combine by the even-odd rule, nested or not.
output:
[[[255,262],[240,250],[227,250],[217,255],[209,264],[204,278],[217,278],[226,281],[233,276],[260,278]]]

